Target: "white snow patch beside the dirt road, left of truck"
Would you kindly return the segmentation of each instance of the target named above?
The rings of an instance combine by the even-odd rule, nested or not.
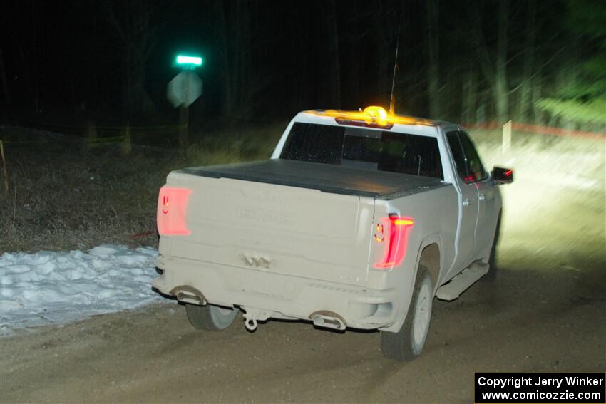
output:
[[[66,323],[93,314],[161,301],[151,247],[103,244],[86,252],[24,252],[0,256],[0,333]]]

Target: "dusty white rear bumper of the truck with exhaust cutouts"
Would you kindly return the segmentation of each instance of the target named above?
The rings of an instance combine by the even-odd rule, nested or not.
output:
[[[398,312],[395,289],[366,289],[162,255],[156,266],[163,274],[153,286],[189,303],[254,308],[268,318],[312,320],[314,314],[328,312],[346,327],[362,329],[389,326]]]

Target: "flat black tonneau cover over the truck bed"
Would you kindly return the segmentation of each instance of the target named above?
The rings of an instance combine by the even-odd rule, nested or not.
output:
[[[282,159],[189,167],[179,171],[202,177],[265,182],[381,200],[391,200],[404,194],[446,185],[440,179],[432,177]]]

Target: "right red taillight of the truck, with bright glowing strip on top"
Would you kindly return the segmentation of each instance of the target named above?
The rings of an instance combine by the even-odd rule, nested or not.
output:
[[[385,253],[383,259],[374,264],[376,269],[388,269],[398,266],[406,256],[406,242],[410,229],[414,226],[411,217],[400,217],[389,215],[382,217],[381,223],[376,225],[379,234],[374,234],[378,243],[385,242]]]

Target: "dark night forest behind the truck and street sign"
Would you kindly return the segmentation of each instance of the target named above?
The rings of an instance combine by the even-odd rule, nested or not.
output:
[[[192,119],[389,106],[603,131],[606,1],[3,0],[0,118],[163,122],[179,52]]]

